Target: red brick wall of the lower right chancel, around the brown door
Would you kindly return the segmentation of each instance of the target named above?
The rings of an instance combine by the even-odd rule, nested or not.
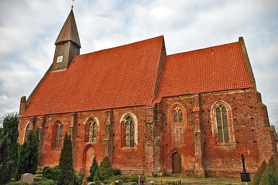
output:
[[[207,177],[239,177],[242,171],[241,154],[247,171],[254,175],[263,161],[277,152],[273,132],[258,92],[253,89],[227,90],[200,94],[200,134],[202,167]],[[213,107],[218,102],[227,105],[230,142],[219,142]],[[194,174],[195,153],[193,95],[163,98],[164,169],[172,173],[171,155],[181,154],[182,173]],[[183,122],[172,122],[172,110],[183,110]],[[256,108],[260,106],[259,108]],[[267,139],[268,138],[268,139]],[[262,148],[263,147],[263,148]],[[195,149],[196,150],[196,149]]]

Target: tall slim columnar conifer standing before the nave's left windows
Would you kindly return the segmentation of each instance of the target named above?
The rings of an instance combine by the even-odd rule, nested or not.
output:
[[[74,169],[72,157],[72,145],[68,132],[65,134],[63,147],[59,159],[59,168],[64,175],[63,185],[73,185],[74,182]]]

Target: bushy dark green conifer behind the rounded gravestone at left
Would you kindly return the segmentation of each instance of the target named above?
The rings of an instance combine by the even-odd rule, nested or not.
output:
[[[19,147],[19,159],[17,162],[15,180],[25,173],[35,174],[39,162],[39,130],[35,134],[31,131],[27,140]]]

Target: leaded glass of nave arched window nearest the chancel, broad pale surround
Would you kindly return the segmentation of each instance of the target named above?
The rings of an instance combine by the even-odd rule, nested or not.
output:
[[[134,147],[134,120],[131,116],[125,120],[125,147]]]

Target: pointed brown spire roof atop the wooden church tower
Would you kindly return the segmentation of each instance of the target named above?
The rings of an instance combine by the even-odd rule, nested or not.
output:
[[[77,44],[79,48],[81,48],[72,7],[68,18],[65,21],[65,24],[61,29],[59,36],[57,37],[55,45],[57,45],[61,41],[72,41]]]

